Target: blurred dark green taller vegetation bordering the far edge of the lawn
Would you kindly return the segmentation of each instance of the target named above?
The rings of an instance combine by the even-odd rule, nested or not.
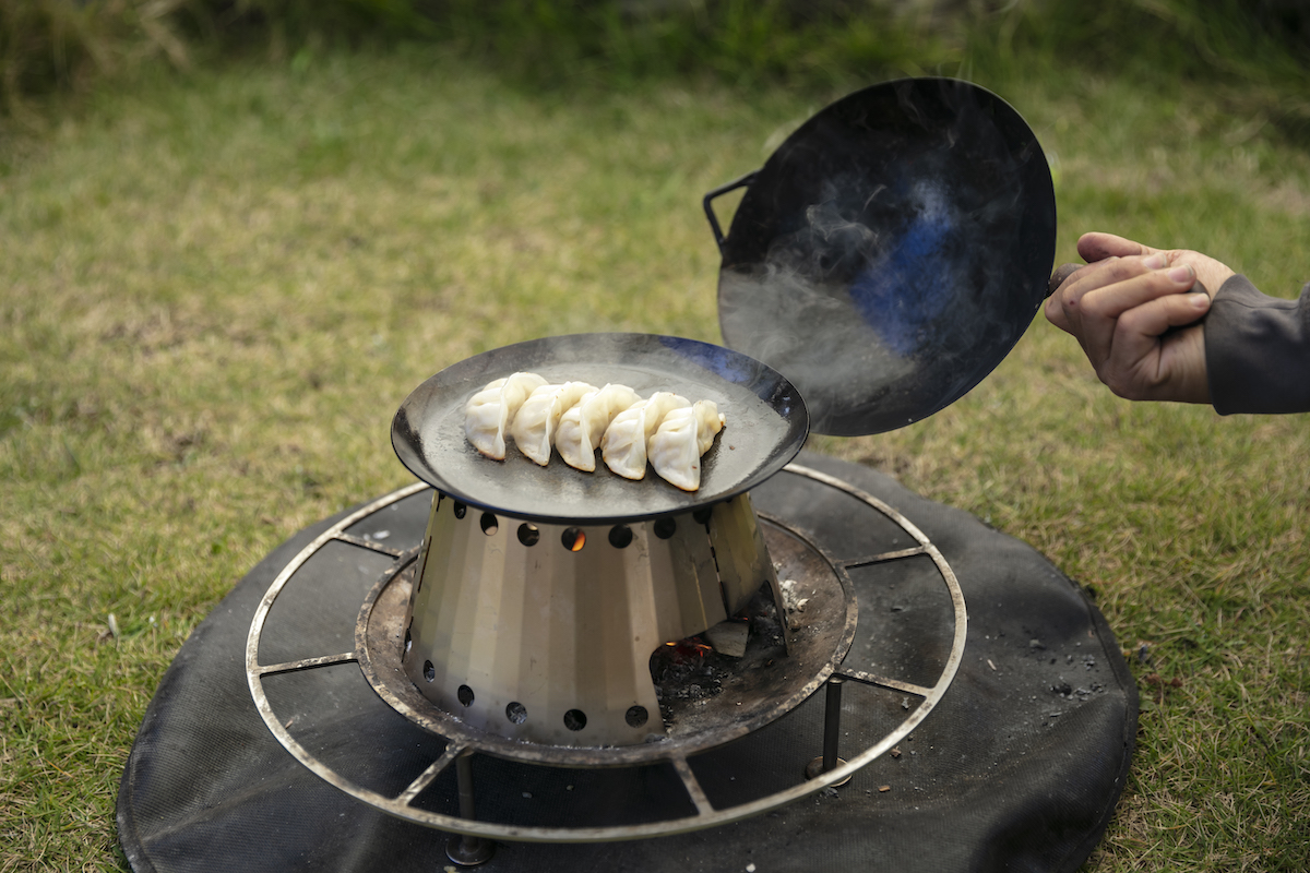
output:
[[[0,0],[0,116],[143,62],[322,45],[455,47],[529,88],[681,75],[844,88],[1032,58],[1123,77],[1238,79],[1243,99],[1310,139],[1310,9],[1301,0]],[[1022,60],[1015,60],[1022,59]]]

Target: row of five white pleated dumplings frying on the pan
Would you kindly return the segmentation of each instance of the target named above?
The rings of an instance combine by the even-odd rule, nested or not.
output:
[[[713,401],[672,391],[642,399],[626,385],[550,385],[536,373],[489,382],[464,407],[464,435],[478,452],[504,461],[506,436],[541,466],[554,448],[578,470],[596,469],[596,449],[613,472],[646,476],[646,462],[683,491],[701,487],[701,455],[723,429]]]

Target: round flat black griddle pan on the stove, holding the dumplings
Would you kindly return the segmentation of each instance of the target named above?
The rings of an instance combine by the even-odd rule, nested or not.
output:
[[[465,440],[464,404],[487,382],[516,372],[548,382],[627,385],[643,398],[673,391],[714,401],[727,419],[701,458],[701,488],[684,492],[647,469],[639,482],[596,458],[583,472],[558,453],[541,467],[507,441],[506,459]],[[777,370],[719,346],[652,334],[574,334],[506,346],[448,366],[419,385],[392,421],[401,462],[438,491],[482,509],[546,524],[608,525],[692,512],[760,484],[796,455],[810,415]]]

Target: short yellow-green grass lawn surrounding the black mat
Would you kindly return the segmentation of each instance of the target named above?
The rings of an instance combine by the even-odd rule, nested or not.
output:
[[[1107,229],[1310,279],[1310,153],[1237,86],[975,76],[1048,152],[1060,260]],[[9,160],[0,873],[127,869],[114,798],[162,671],[286,537],[410,480],[388,428],[426,377],[550,334],[718,342],[700,198],[836,96],[301,54],[143,76]],[[938,415],[811,446],[1098,592],[1142,717],[1087,869],[1310,869],[1310,419],[1119,401],[1039,319]]]

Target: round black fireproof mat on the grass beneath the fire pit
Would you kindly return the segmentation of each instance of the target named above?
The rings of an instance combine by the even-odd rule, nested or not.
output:
[[[969,614],[968,643],[938,708],[900,742],[897,757],[883,755],[840,789],[694,834],[502,843],[481,870],[1076,870],[1087,859],[1123,789],[1137,729],[1136,686],[1100,613],[1031,547],[967,513],[859,466],[814,454],[799,463],[895,507],[954,568]],[[415,546],[430,499],[428,491],[407,497],[352,533],[385,530],[388,544]],[[776,475],[752,499],[761,514],[804,531],[837,560],[912,544],[848,495],[791,472]],[[138,873],[430,873],[448,865],[445,834],[390,818],[321,781],[272,738],[250,699],[244,650],[254,610],[287,561],[333,521],[300,531],[261,561],[193,632],[160,683],[118,797],[119,840]],[[950,610],[924,561],[852,571],[859,626],[846,669],[933,682]],[[278,636],[266,633],[270,652],[262,660],[351,648],[348,628],[363,592],[385,564],[385,556],[348,546],[321,550],[300,571],[312,575],[314,596],[295,602],[288,589],[288,602],[279,599],[269,618]],[[367,686],[359,694],[356,666],[303,675],[284,688],[270,683],[270,698],[292,713],[328,705],[329,717],[309,728],[320,733],[303,742],[314,743],[339,772],[381,788],[413,772],[405,767],[414,760],[439,754],[440,739],[386,709]],[[858,683],[844,687],[844,751],[858,751],[918,703]],[[693,758],[710,800],[740,802],[747,788],[785,783],[782,775],[790,779],[820,754],[823,705],[823,694],[815,695],[758,734]],[[384,758],[372,754],[383,746]],[[638,813],[662,800],[685,804],[659,767],[536,771],[476,760],[479,815],[489,818],[570,825],[558,821],[570,802],[588,814],[604,814],[613,797],[638,797]],[[448,789],[438,780],[423,805],[453,813],[440,797]]]

